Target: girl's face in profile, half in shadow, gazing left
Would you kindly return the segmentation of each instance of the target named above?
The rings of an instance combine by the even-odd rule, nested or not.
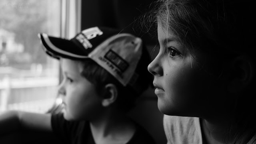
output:
[[[159,110],[178,116],[201,116],[204,112],[216,110],[214,107],[221,94],[209,73],[204,71],[210,63],[207,56],[199,51],[193,51],[192,55],[176,40],[176,36],[167,33],[160,24],[158,41],[160,50],[148,65],[148,71],[154,75]],[[205,64],[204,67],[197,62]]]

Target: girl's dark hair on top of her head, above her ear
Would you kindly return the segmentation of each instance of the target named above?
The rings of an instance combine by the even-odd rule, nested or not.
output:
[[[252,4],[238,0],[158,0],[150,19],[189,49],[214,55],[250,54],[255,45]],[[218,48],[216,48],[218,47]],[[248,50],[241,51],[241,47]]]

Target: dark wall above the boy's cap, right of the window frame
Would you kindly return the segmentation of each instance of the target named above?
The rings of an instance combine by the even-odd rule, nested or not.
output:
[[[147,45],[155,45],[156,37],[143,32],[143,24],[139,20],[153,1],[155,0],[84,0],[81,30],[91,26],[125,29],[142,37]]]

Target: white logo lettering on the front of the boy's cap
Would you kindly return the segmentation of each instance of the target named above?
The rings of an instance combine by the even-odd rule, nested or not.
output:
[[[78,34],[78,36],[76,36],[76,39],[82,43],[85,49],[92,48],[92,44],[90,41],[88,41],[88,39],[92,39],[97,35],[100,36],[103,34],[103,32],[98,27],[88,28],[83,30],[81,33],[82,34]]]

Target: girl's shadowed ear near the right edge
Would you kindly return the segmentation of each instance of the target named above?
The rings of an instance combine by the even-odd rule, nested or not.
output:
[[[228,84],[228,91],[239,93],[250,84],[255,76],[255,63],[246,56],[236,57],[232,61],[232,77]]]

